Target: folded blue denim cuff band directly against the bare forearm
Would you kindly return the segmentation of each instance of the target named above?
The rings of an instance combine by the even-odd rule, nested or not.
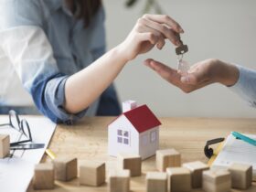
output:
[[[49,80],[45,91],[45,99],[51,114],[48,117],[56,123],[73,124],[85,115],[87,109],[72,114],[64,109],[65,106],[65,84],[68,76],[62,76]],[[53,115],[52,115],[53,114]]]

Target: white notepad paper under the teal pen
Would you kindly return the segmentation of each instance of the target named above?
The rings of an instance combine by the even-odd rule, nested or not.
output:
[[[256,135],[246,135],[256,139]],[[230,134],[216,160],[213,162],[212,167],[227,168],[232,163],[252,165],[253,180],[256,180],[256,146],[236,139]]]

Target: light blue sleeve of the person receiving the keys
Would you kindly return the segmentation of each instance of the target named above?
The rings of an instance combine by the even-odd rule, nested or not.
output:
[[[251,107],[256,107],[256,70],[247,69],[240,65],[237,65],[237,68],[240,70],[239,80],[229,89],[240,95]]]

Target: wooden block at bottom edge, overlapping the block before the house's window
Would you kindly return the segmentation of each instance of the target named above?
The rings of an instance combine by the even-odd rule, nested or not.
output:
[[[110,192],[130,191],[130,170],[112,170],[109,175]]]

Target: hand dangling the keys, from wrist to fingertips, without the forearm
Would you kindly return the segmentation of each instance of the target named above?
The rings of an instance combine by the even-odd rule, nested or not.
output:
[[[184,33],[183,29],[170,16],[147,14],[137,20],[128,37],[119,45],[119,50],[123,59],[129,61],[148,52],[155,45],[162,49],[165,46],[165,38],[179,46],[179,33]]]

